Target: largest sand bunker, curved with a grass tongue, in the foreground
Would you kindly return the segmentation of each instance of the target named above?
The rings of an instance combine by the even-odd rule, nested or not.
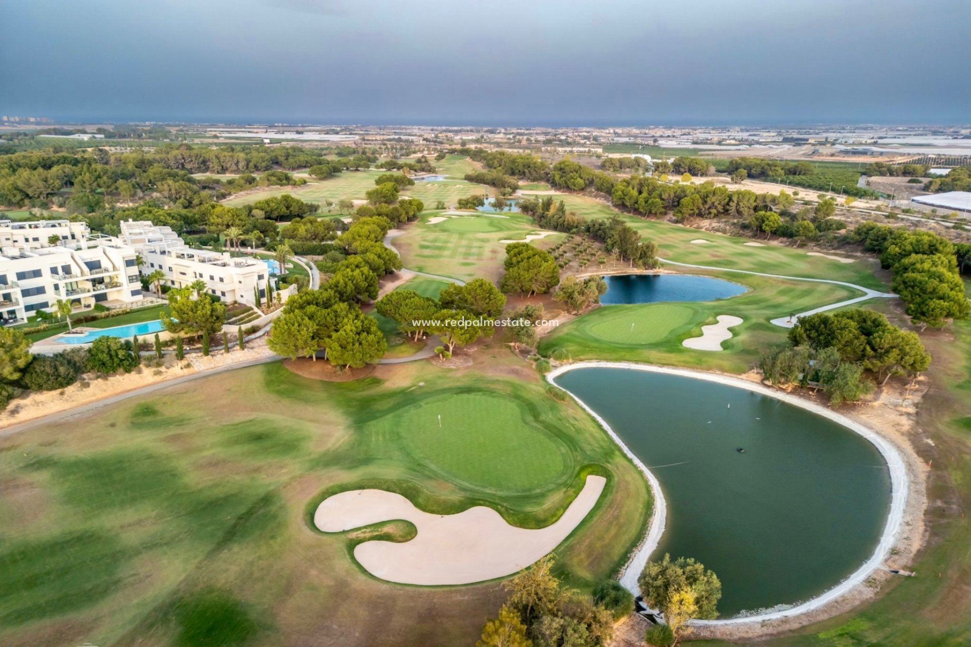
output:
[[[354,548],[354,559],[388,582],[472,584],[510,575],[550,553],[593,509],[606,483],[603,476],[587,476],[584,489],[563,515],[539,530],[510,526],[482,505],[458,514],[429,514],[385,490],[352,490],[329,497],[318,505],[314,524],[324,533],[342,533],[383,521],[410,521],[418,529],[414,539],[365,541]]]

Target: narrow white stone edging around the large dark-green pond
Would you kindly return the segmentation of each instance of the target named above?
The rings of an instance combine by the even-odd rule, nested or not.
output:
[[[828,420],[846,427],[850,431],[858,434],[861,437],[869,440],[887,461],[887,469],[890,473],[890,510],[887,514],[887,523],[884,525],[884,533],[881,535],[880,542],[877,544],[877,548],[873,555],[865,562],[862,566],[854,570],[854,572],[844,579],[842,582],[837,584],[832,589],[825,591],[820,596],[812,598],[795,606],[787,609],[782,609],[779,611],[773,611],[770,613],[763,613],[753,616],[742,616],[737,618],[726,618],[723,620],[695,620],[692,621],[692,625],[697,626],[708,626],[708,627],[719,627],[727,625],[743,625],[743,624],[753,624],[761,623],[767,620],[780,620],[783,618],[791,618],[794,616],[799,616],[811,611],[815,611],[820,607],[828,604],[836,598],[849,593],[855,587],[859,586],[866,581],[870,575],[873,574],[887,559],[890,550],[900,539],[900,534],[903,525],[904,508],[907,502],[907,497],[910,490],[910,482],[907,476],[907,468],[904,464],[904,460],[897,451],[897,448],[893,446],[887,438],[880,436],[869,427],[851,420],[847,416],[836,413],[835,411],[799,398],[792,396],[787,393],[780,392],[776,389],[770,389],[762,384],[756,384],[748,380],[741,379],[739,377],[731,377],[728,375],[720,375],[717,373],[701,372],[701,371],[690,371],[687,369],[674,369],[670,367],[660,367],[653,366],[650,364],[636,364],[633,362],[602,362],[602,361],[590,361],[590,362],[577,362],[574,364],[568,364],[565,366],[557,367],[551,372],[546,374],[546,378],[556,387],[563,388],[555,383],[554,378],[563,374],[564,372],[574,371],[577,369],[586,368],[604,368],[604,369],[629,369],[633,371],[644,371],[644,372],[658,372],[669,375],[680,375],[683,377],[692,377],[695,379],[703,379],[709,382],[717,382],[719,384],[725,384],[728,386],[733,386],[740,389],[745,389],[758,395],[768,396],[770,398],[775,398],[781,400],[787,404],[793,404],[800,408],[806,409],[820,415]],[[661,535],[664,533],[664,526],[667,518],[667,504],[664,501],[664,495],[661,493],[660,483],[657,478],[653,475],[650,469],[641,462],[637,456],[623,443],[623,441],[618,437],[618,435],[611,429],[607,421],[604,420],[600,415],[596,413],[593,409],[586,405],[584,401],[578,398],[576,395],[571,393],[567,389],[563,389],[570,397],[573,398],[578,404],[580,404],[587,413],[589,413],[593,418],[600,423],[600,426],[607,432],[610,437],[618,443],[618,446],[623,451],[623,453],[640,469],[644,472],[648,479],[648,483],[651,485],[651,492],[654,498],[653,513],[651,515],[651,523],[648,526],[648,532],[644,539],[641,541],[639,548],[637,549],[634,556],[631,558],[628,565],[624,568],[620,575],[620,584],[633,593],[635,596],[639,595],[639,590],[637,587],[637,577],[647,565],[648,559],[651,557],[653,551],[657,548],[657,544],[660,541]]]

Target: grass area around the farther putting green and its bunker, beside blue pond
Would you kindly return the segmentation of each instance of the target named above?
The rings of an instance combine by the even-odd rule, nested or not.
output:
[[[859,296],[851,288],[828,283],[785,281],[751,275],[689,271],[742,283],[750,291],[719,301],[701,303],[601,306],[558,327],[540,340],[540,353],[549,356],[565,348],[574,359],[651,362],[728,372],[746,372],[762,351],[786,341],[787,329],[770,322]],[[701,327],[714,324],[720,314],[740,316],[720,352],[692,350],[682,345],[699,337]],[[631,324],[634,324],[631,330]]]

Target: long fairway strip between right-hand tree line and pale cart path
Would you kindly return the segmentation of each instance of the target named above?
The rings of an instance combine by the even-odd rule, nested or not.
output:
[[[887,283],[874,273],[880,264],[872,257],[859,257],[853,263],[841,263],[821,256],[809,256],[810,249],[798,249],[767,241],[738,238],[702,232],[690,227],[660,220],[620,214],[603,202],[584,196],[556,196],[562,199],[567,210],[576,211],[587,218],[606,218],[621,215],[641,235],[657,243],[658,255],[679,263],[710,265],[749,272],[774,275],[806,276],[842,280],[875,290],[887,290]],[[709,243],[692,244],[703,239]],[[745,243],[762,243],[755,246]]]

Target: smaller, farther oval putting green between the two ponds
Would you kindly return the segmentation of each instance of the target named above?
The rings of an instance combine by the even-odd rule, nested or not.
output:
[[[690,325],[696,316],[695,308],[689,306],[611,306],[587,314],[581,328],[598,340],[636,345],[663,340]]]

